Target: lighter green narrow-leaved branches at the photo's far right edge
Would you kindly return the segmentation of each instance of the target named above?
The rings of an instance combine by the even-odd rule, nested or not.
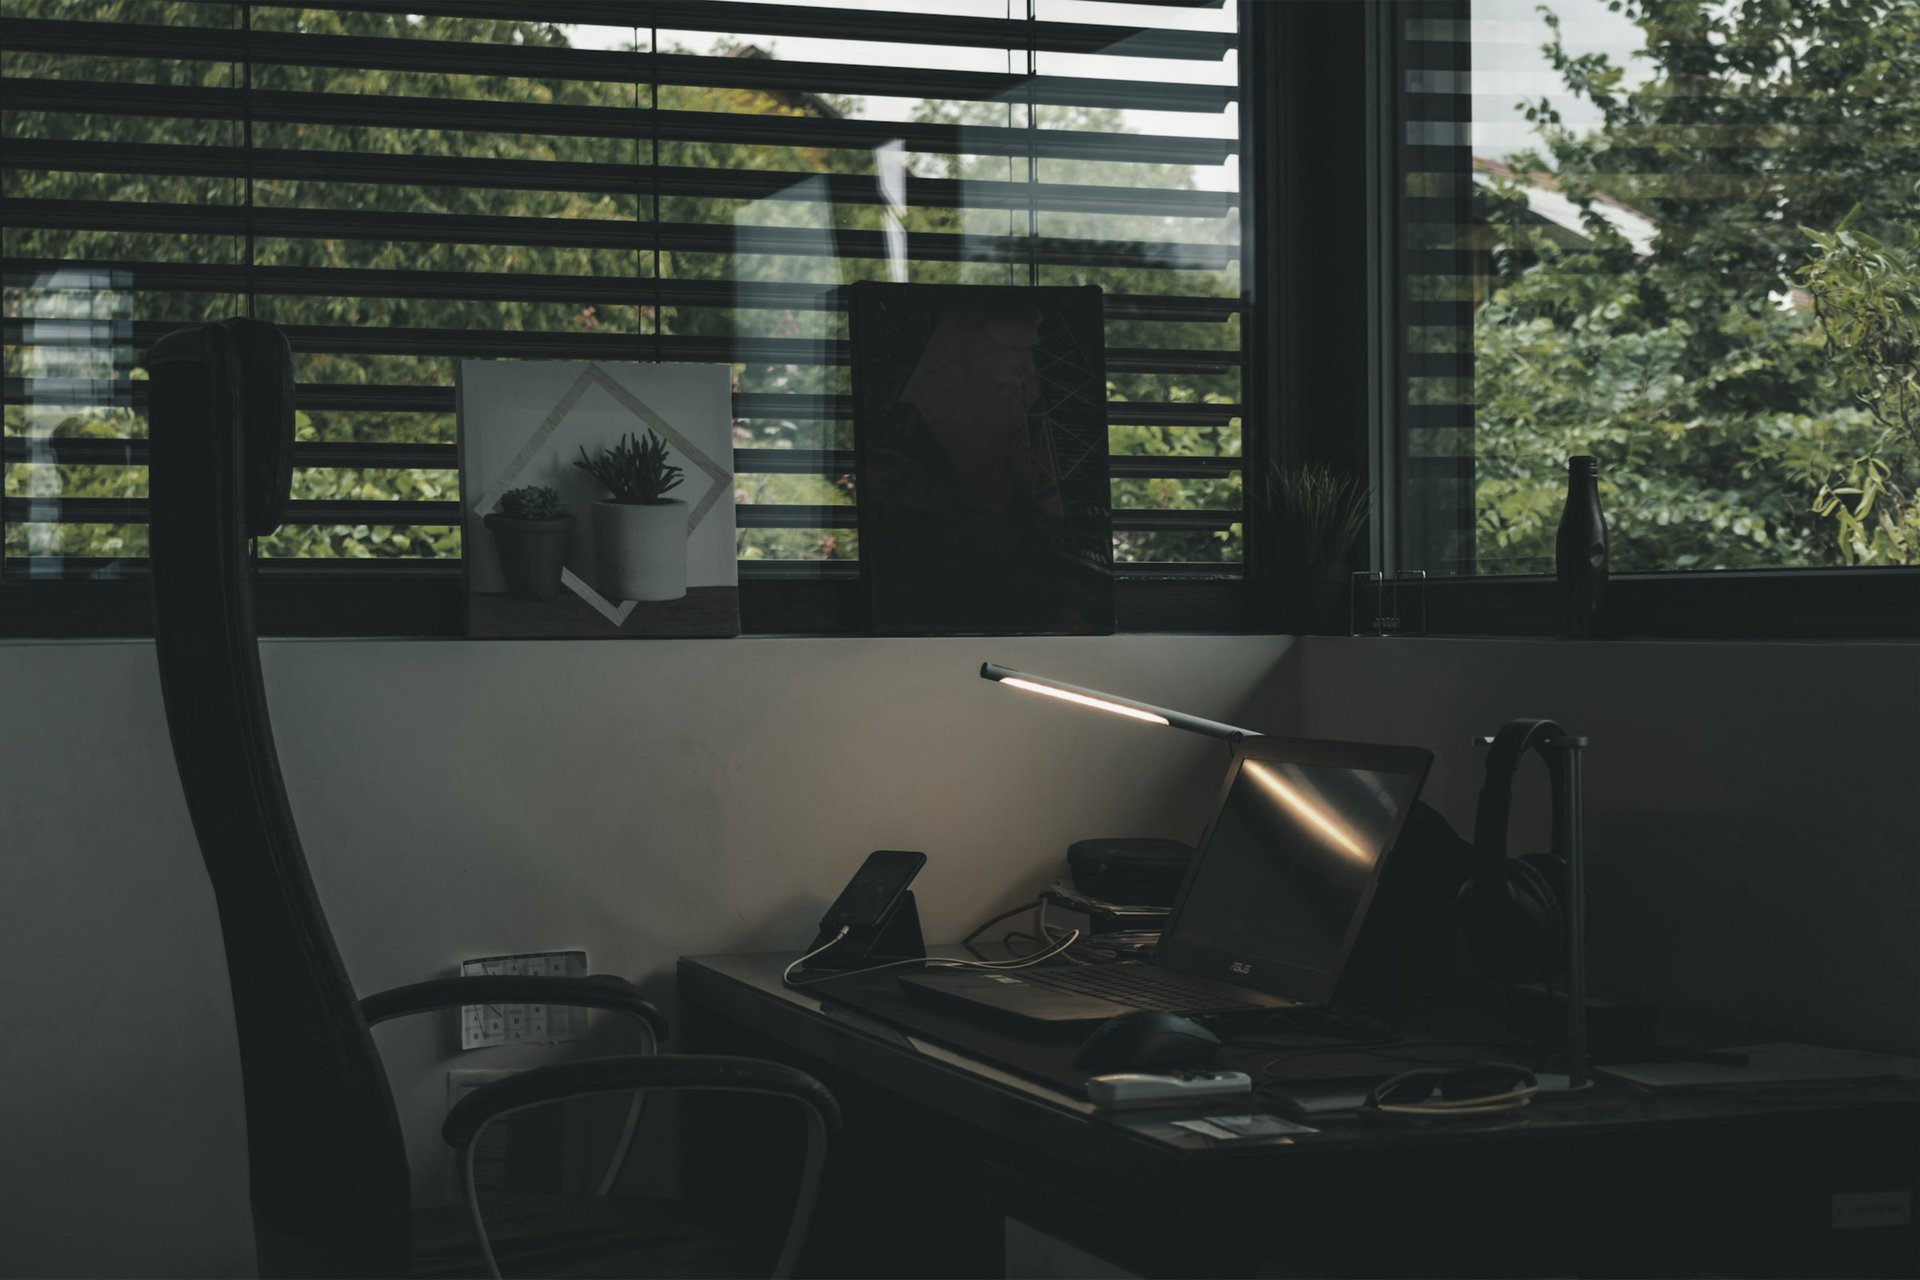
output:
[[[1903,244],[1853,230],[1855,205],[1834,230],[1807,230],[1814,261],[1799,274],[1839,386],[1880,428],[1837,470],[1807,472],[1820,482],[1814,512],[1834,520],[1853,564],[1920,564],[1920,186],[1914,196]]]

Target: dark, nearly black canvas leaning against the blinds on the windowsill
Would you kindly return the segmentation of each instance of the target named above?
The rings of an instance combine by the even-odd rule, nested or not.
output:
[[[1114,629],[1098,288],[851,286],[874,631]]]

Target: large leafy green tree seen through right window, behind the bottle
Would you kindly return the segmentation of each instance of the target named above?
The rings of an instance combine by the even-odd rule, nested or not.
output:
[[[1601,125],[1571,129],[1542,100],[1528,107],[1540,150],[1509,157],[1517,173],[1553,173],[1590,244],[1569,248],[1565,232],[1528,219],[1515,182],[1484,200],[1492,273],[1473,334],[1480,570],[1551,570],[1574,453],[1599,457],[1617,570],[1910,557],[1885,522],[1899,528],[1895,509],[1910,510],[1912,474],[1876,401],[1832,376],[1818,294],[1809,307],[1793,284],[1809,261],[1799,225],[1834,226],[1855,203],[1874,230],[1910,219],[1920,6],[1611,8],[1645,33],[1653,75],[1628,86],[1605,56],[1571,54],[1542,8],[1548,59]],[[1651,253],[1609,225],[1601,198],[1657,226]],[[1828,305],[1839,309],[1841,294]],[[1432,393],[1446,401],[1450,390]],[[1864,541],[1849,520],[1872,524]]]

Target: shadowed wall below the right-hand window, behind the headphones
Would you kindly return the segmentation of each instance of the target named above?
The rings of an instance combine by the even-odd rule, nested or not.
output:
[[[1824,1044],[1920,1054],[1920,647],[1306,637],[1317,737],[1419,743],[1473,831],[1478,748],[1517,716],[1592,739],[1596,990]],[[1548,846],[1546,770],[1513,852]]]

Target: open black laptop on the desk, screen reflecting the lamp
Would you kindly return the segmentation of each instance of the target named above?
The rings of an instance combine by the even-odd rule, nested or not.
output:
[[[1428,764],[1419,747],[1242,739],[1150,963],[943,969],[900,986],[1037,1023],[1323,1006]]]

